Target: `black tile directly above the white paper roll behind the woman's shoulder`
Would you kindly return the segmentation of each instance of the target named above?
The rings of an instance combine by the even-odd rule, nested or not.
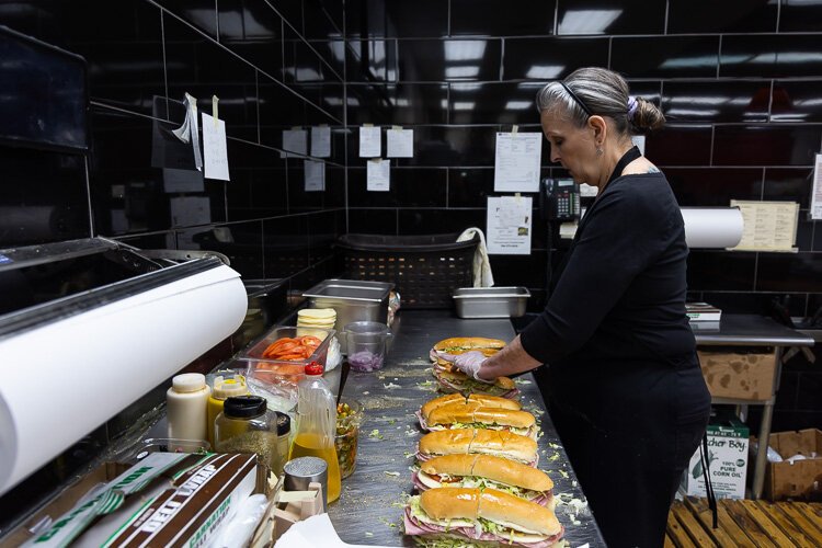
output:
[[[664,172],[682,207],[728,207],[731,199],[762,196],[762,169],[666,168]]]

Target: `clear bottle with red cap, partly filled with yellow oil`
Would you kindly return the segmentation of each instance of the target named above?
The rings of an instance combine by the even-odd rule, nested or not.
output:
[[[334,433],[336,404],[326,380],[322,366],[316,362],[306,366],[306,378],[297,385],[299,400],[297,437],[292,445],[292,458],[320,457],[328,464],[328,502],[340,498],[340,465],[336,461]]]

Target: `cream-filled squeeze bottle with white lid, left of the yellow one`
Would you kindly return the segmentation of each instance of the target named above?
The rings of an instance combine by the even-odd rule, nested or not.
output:
[[[171,388],[165,392],[169,437],[199,441],[207,438],[206,406],[209,393],[203,374],[183,373],[171,379]],[[173,443],[169,446],[172,450],[179,448]]]

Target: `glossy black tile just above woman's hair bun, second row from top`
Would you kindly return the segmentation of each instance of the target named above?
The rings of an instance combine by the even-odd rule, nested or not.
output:
[[[610,68],[626,78],[713,78],[719,36],[616,37]]]

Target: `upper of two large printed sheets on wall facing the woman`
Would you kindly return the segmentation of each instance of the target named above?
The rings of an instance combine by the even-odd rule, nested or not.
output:
[[[498,133],[494,191],[537,192],[543,134]]]

